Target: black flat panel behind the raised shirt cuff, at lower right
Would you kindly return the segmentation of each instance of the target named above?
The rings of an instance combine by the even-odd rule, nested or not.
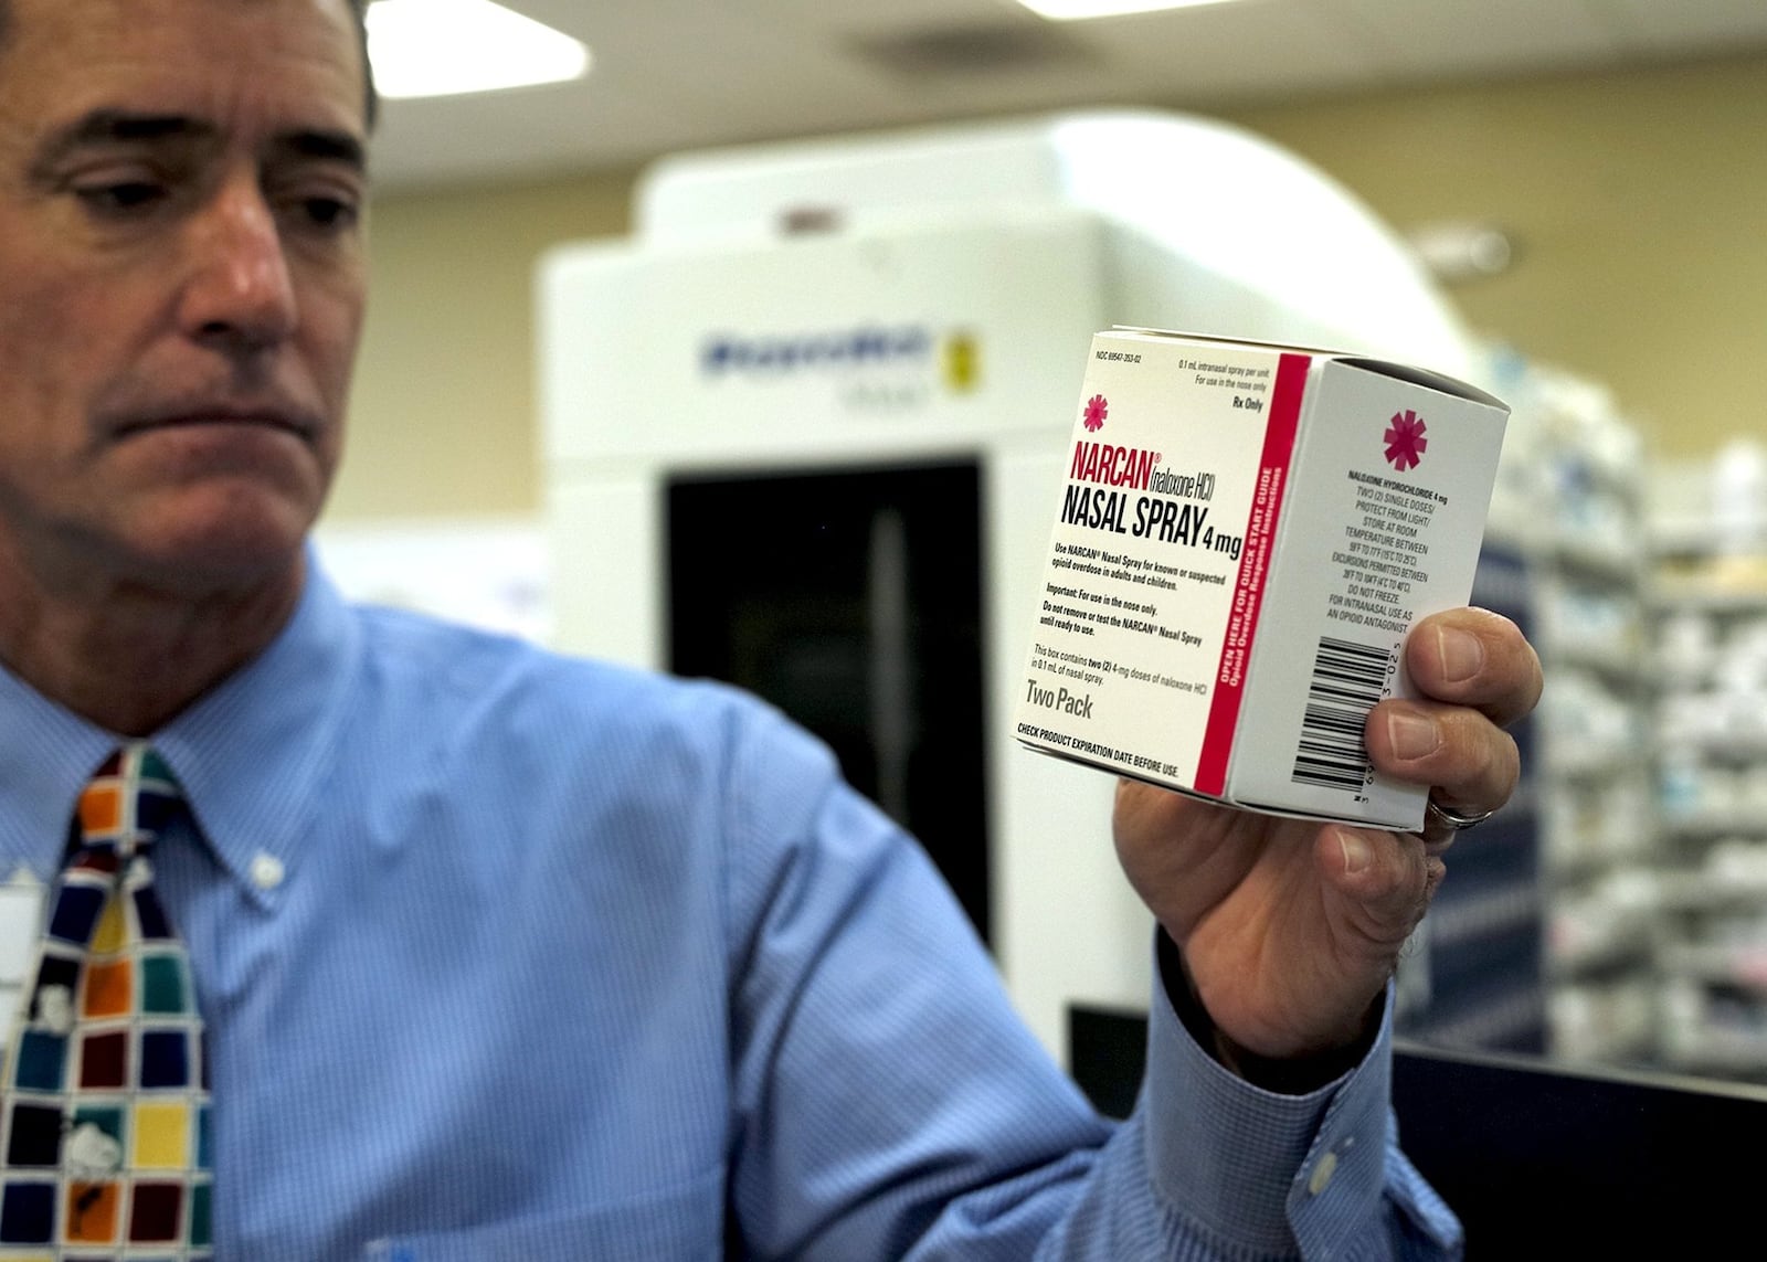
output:
[[[1069,1009],[1069,1062],[1124,1115],[1147,1020]],[[1767,1257],[1767,1089],[1399,1043],[1407,1156],[1454,1207],[1468,1258]]]

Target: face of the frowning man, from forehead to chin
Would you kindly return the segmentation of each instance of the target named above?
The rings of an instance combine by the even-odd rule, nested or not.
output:
[[[14,0],[0,574],[217,594],[297,564],[362,318],[352,23],[345,0]]]

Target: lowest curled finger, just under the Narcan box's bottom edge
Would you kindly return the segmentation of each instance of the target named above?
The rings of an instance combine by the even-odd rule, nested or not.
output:
[[[1316,855],[1338,893],[1341,928],[1373,967],[1391,969],[1442,884],[1442,859],[1417,836],[1341,825],[1320,829]]]

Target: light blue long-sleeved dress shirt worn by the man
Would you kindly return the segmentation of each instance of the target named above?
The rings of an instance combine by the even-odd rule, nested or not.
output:
[[[0,877],[113,737],[0,672]],[[935,870],[712,684],[345,604],[155,744],[216,1098],[217,1257],[1435,1257],[1387,1036],[1272,1096],[1154,997],[1101,1122]],[[1050,926],[1050,931],[1071,931]]]

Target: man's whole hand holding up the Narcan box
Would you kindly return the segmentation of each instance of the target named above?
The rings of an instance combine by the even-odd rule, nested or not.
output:
[[[1405,665],[1421,698],[1369,714],[1375,767],[1461,815],[1502,806],[1520,776],[1502,728],[1539,700],[1539,658],[1507,619],[1451,610],[1417,624]],[[1361,1038],[1454,836],[1438,820],[1399,834],[1251,815],[1127,779],[1113,831],[1209,1018],[1263,1059]]]

